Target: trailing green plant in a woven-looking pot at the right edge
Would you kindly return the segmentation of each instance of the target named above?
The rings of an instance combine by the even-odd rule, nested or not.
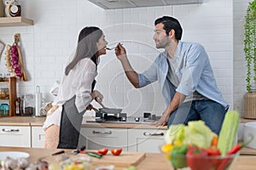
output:
[[[256,0],[248,3],[244,29],[244,53],[247,62],[244,116],[256,119]]]

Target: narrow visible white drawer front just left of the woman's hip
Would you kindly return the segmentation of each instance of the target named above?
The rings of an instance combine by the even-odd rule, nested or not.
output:
[[[43,127],[32,127],[32,148],[44,148],[44,139]]]

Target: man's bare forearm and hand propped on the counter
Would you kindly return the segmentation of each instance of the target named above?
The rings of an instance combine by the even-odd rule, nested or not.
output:
[[[151,123],[154,126],[165,126],[171,116],[172,112],[177,110],[178,106],[183,103],[183,100],[186,98],[185,95],[176,92],[172,98],[172,101],[167,106],[166,111],[164,111],[160,120],[157,122]]]

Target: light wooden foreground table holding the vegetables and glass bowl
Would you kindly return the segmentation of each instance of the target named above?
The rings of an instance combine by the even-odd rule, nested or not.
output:
[[[45,157],[47,161],[53,161],[52,153],[58,151],[48,149],[35,149],[35,148],[16,148],[16,147],[0,147],[1,151],[26,151],[30,154],[29,160],[36,163],[38,158]],[[71,151],[71,150],[66,150]],[[52,158],[51,160],[49,158]],[[256,167],[256,156],[238,156],[232,163],[230,170],[254,170]],[[95,169],[92,167],[91,169]],[[116,167],[115,170],[122,170],[123,167]],[[172,170],[171,163],[167,161],[165,156],[156,153],[146,153],[146,157],[137,165],[138,170]]]

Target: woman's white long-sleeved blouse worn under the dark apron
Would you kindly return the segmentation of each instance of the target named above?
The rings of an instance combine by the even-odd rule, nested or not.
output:
[[[97,75],[96,65],[90,58],[84,58],[61,79],[58,95],[52,105],[58,105],[55,112],[46,117],[44,129],[52,124],[60,125],[62,105],[76,95],[75,105],[82,112],[91,102],[91,84]]]

